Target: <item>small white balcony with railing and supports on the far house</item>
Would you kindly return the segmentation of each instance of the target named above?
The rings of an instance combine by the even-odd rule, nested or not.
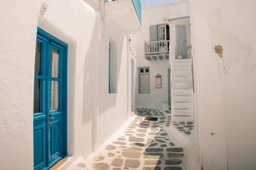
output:
[[[169,59],[170,40],[145,42],[145,55],[147,60]]]

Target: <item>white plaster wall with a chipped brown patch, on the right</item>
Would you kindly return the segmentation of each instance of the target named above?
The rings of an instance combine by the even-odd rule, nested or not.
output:
[[[256,3],[190,3],[203,169],[255,169]],[[223,58],[216,45],[223,47]]]

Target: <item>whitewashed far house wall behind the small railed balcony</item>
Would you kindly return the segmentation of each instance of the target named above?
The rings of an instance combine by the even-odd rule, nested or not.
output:
[[[153,7],[142,8],[142,26],[141,32],[131,36],[131,42],[134,44],[134,49],[137,58],[138,67],[150,67],[150,94],[138,93],[138,79],[136,73],[136,87],[135,87],[135,106],[138,107],[155,107],[162,109],[162,104],[168,104],[168,68],[170,64],[168,60],[146,60],[144,55],[144,42],[150,41],[150,26],[157,24],[168,24],[168,19],[174,17],[183,17],[188,14],[187,1],[181,1],[179,3],[166,3]],[[170,41],[175,36],[170,30]],[[172,44],[170,44],[172,48]],[[162,89],[156,89],[155,77],[156,75],[162,75]]]

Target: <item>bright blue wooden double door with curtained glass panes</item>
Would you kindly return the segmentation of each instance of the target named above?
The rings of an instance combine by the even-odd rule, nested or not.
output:
[[[34,169],[67,155],[67,44],[38,28],[34,73]]]

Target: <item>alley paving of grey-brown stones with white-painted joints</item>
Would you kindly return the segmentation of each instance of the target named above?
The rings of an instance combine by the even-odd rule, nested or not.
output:
[[[144,120],[146,117],[158,120]],[[72,170],[181,170],[183,148],[165,130],[170,121],[170,110],[137,108],[137,115],[120,136]]]

